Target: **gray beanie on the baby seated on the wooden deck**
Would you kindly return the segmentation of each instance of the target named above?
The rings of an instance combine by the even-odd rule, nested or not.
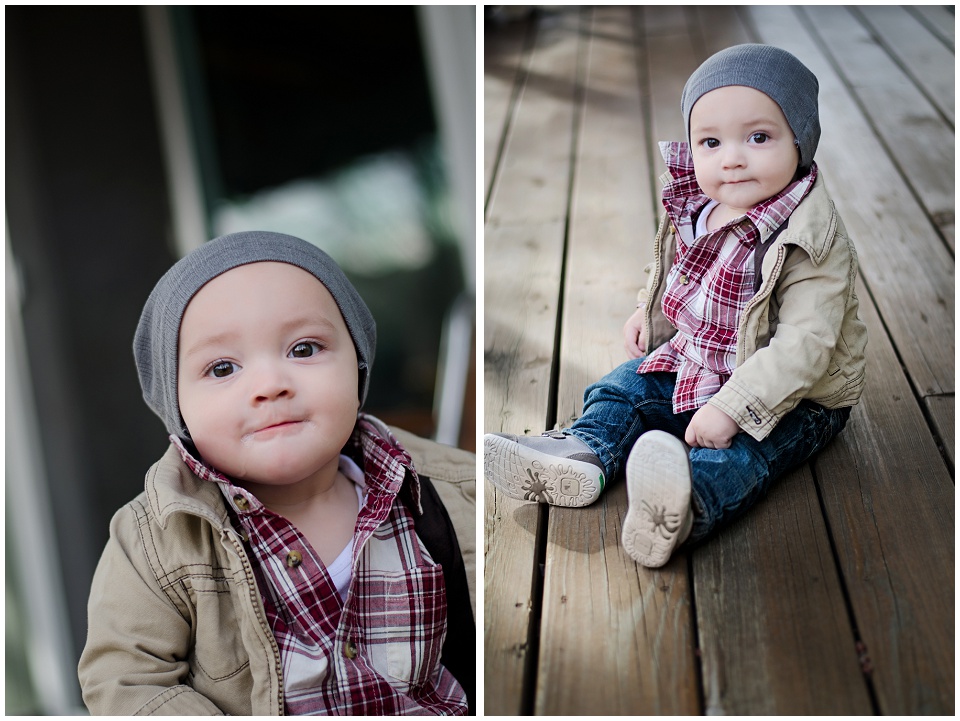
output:
[[[800,148],[800,167],[808,169],[820,142],[817,76],[786,50],[772,45],[734,45],[709,57],[683,88],[680,108],[690,139],[690,111],[711,90],[745,85],[769,96],[783,111]]]

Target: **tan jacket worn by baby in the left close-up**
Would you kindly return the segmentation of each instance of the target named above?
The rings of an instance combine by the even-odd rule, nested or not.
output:
[[[475,456],[390,430],[453,521],[475,613]],[[283,714],[280,653],[220,489],[173,446],[111,521],[89,608],[79,676],[91,713]]]

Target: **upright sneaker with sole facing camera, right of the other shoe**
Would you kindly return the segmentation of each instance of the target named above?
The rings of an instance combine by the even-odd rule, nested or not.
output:
[[[621,540],[642,566],[658,568],[687,540],[693,527],[690,508],[690,457],[679,438],[648,431],[627,459],[628,510]]]

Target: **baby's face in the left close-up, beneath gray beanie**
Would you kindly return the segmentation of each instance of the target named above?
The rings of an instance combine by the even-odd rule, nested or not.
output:
[[[178,359],[180,412],[214,468],[272,485],[336,470],[360,405],[357,353],[313,275],[263,262],[217,276],[187,306]]]

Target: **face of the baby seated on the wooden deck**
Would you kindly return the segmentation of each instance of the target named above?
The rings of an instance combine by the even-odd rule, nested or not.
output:
[[[694,104],[690,144],[700,188],[740,213],[786,188],[800,161],[780,106],[742,85],[711,90]]]

